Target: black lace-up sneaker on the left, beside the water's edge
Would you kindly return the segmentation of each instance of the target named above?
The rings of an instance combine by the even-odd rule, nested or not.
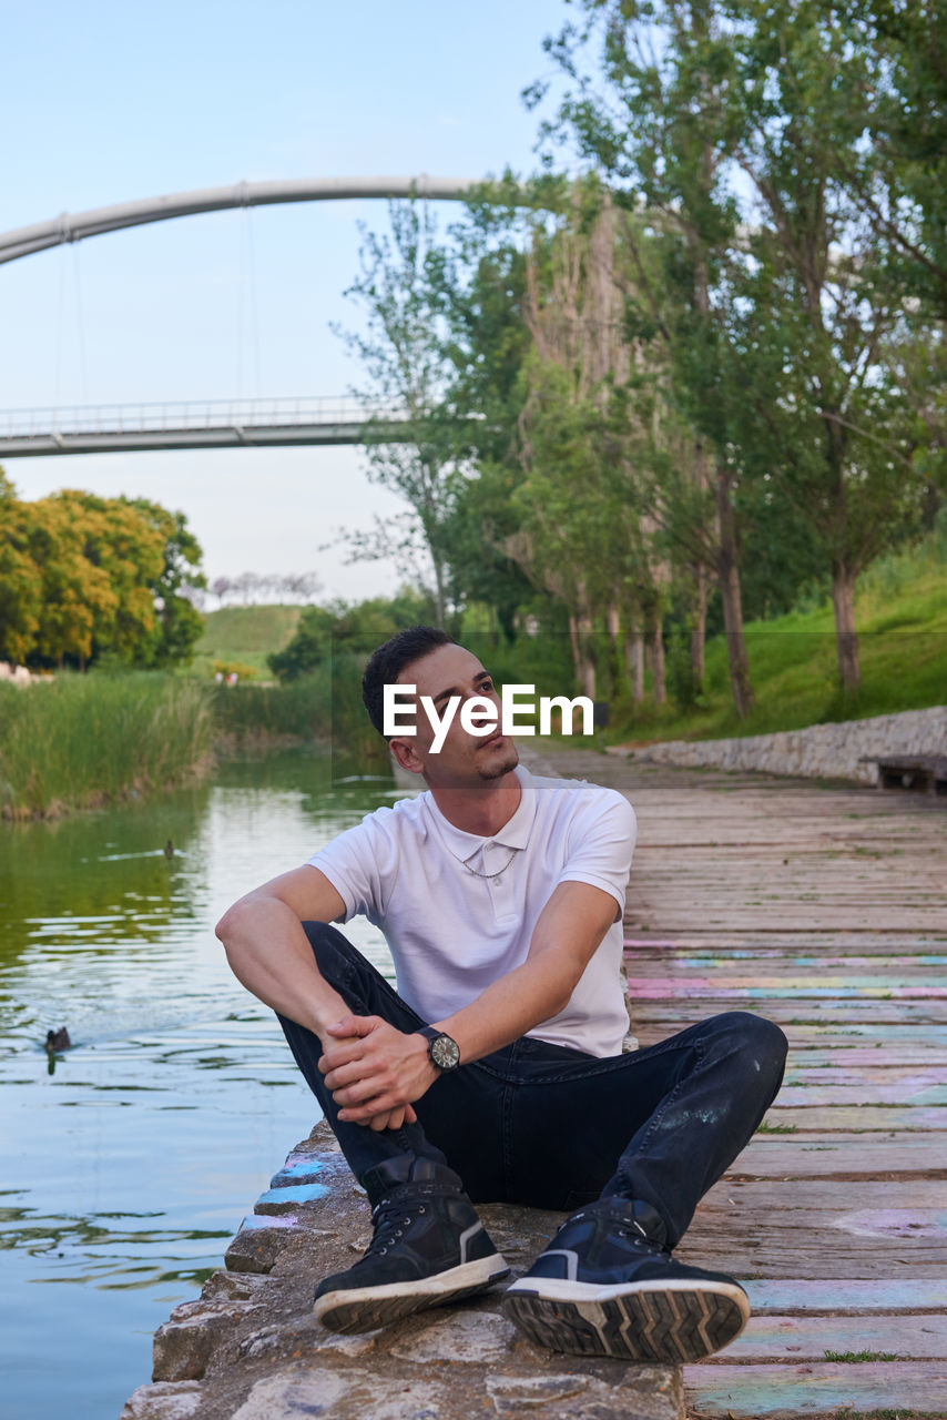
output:
[[[373,1331],[510,1275],[451,1169],[406,1154],[362,1181],[375,1237],[355,1267],[319,1282],[314,1314],[329,1331]]]

